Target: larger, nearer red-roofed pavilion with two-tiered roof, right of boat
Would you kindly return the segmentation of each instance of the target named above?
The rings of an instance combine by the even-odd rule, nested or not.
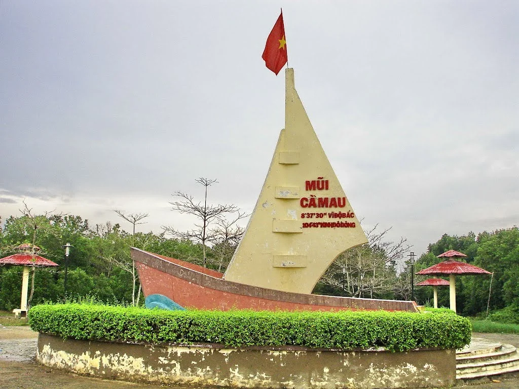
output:
[[[443,262],[436,263],[427,269],[420,270],[416,274],[420,275],[447,275],[449,276],[449,300],[450,309],[456,312],[456,274],[457,275],[474,275],[474,274],[490,274],[485,269],[471,265],[467,262],[457,261],[457,258],[466,257],[459,251],[449,250],[440,254],[438,258],[447,258]]]

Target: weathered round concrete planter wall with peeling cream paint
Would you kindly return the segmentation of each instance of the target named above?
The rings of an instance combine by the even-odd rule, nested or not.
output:
[[[40,334],[36,359],[99,378],[197,387],[417,388],[456,380],[455,350],[226,349],[64,341]]]

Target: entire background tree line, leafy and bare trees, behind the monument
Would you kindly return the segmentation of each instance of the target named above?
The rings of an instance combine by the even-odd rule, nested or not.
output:
[[[204,186],[206,186],[204,183]],[[206,186],[207,188],[207,186]],[[185,200],[186,198],[184,198]],[[236,221],[243,213],[233,209],[228,217],[213,218],[208,210],[192,198],[203,223],[194,231],[171,233],[136,232],[146,214],[117,212],[131,227],[130,232],[118,223],[107,222],[91,226],[80,216],[62,214],[11,216],[0,223],[0,256],[15,253],[15,247],[29,243],[42,248],[40,255],[58,263],[57,268],[34,270],[32,304],[60,301],[65,298],[63,245],[74,246],[68,260],[66,294],[69,297],[95,296],[108,303],[142,304],[140,285],[131,260],[130,247],[138,247],[168,257],[197,263],[224,272],[234,254],[243,230]],[[178,202],[172,203],[177,206]],[[206,207],[207,205],[206,201]],[[222,207],[218,205],[217,207]],[[223,207],[225,209],[225,207]],[[29,210],[26,208],[26,210]],[[226,212],[229,210],[226,210]],[[230,216],[230,217],[229,217]],[[1,220],[0,220],[1,221]],[[205,231],[203,231],[205,229]],[[200,233],[202,231],[202,233]],[[390,241],[389,229],[378,226],[366,231],[368,243],[353,247],[339,255],[323,274],[313,293],[336,296],[401,299],[412,296],[411,261],[406,260],[411,245],[405,239]],[[178,231],[176,231],[178,232]],[[168,233],[170,235],[168,235]],[[172,236],[171,236],[172,235]],[[455,249],[467,254],[466,260],[482,267],[491,276],[461,276],[457,279],[457,307],[463,315],[486,315],[503,308],[519,313],[519,230],[517,227],[463,236],[444,234],[428,247],[414,265],[414,271],[440,262],[439,254]],[[402,267],[403,266],[403,267]],[[12,310],[20,305],[22,268],[0,267],[0,309]],[[445,277],[446,278],[446,277]],[[415,276],[415,284],[425,277]],[[419,304],[432,304],[432,288],[414,287]],[[448,307],[448,288],[439,289],[440,306]],[[518,315],[519,316],[519,315]]]

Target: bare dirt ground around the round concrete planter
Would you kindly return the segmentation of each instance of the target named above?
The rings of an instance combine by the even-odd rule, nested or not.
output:
[[[473,336],[513,344],[519,348],[519,335],[473,334]],[[37,332],[32,331],[28,326],[0,325],[0,389],[158,389],[166,387],[87,378],[46,366],[39,366],[34,362],[36,342]],[[456,388],[519,388],[519,377],[500,378],[499,381],[459,385]]]

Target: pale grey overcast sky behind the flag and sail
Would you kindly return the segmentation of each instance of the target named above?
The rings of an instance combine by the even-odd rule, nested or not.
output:
[[[519,2],[2,1],[0,216],[190,227],[176,190],[251,212],[289,65],[364,228],[416,254],[519,224]],[[121,225],[130,230],[124,220]],[[125,224],[126,223],[126,224]]]

